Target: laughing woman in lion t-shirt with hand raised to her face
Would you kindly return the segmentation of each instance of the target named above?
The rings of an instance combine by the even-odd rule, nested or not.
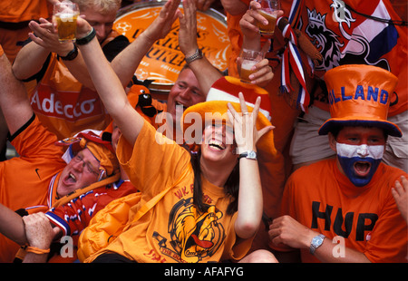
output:
[[[171,0],[165,7],[176,10],[179,4]],[[193,6],[194,1],[183,1],[186,5]],[[184,15],[177,15],[184,19]],[[91,26],[79,19],[78,29],[81,38]],[[263,211],[258,161],[245,155],[249,150],[257,151],[263,164],[263,160],[273,161],[277,154],[273,127],[267,117],[258,114],[261,98],[254,94],[252,105],[248,105],[240,93],[235,102],[199,102],[184,112],[199,112],[205,121],[205,112],[228,111],[237,144],[227,143],[227,135],[232,132],[227,130],[227,123],[206,128],[201,123],[206,141],[198,145],[199,151],[185,150],[174,141],[159,143],[157,136],[164,137],[133,109],[96,40],[79,48],[102,102],[121,130],[117,146],[121,167],[141,190],[141,202],[148,202],[133,206],[124,230],[84,261],[106,261],[104,257],[109,259],[112,254],[137,262],[219,262],[245,257]],[[242,91],[248,90],[239,85]],[[253,89],[250,91],[257,92]],[[186,105],[181,100],[176,102]],[[187,128],[183,126],[183,130]],[[235,146],[243,155],[239,160]],[[264,169],[262,173],[269,171]],[[236,210],[231,211],[231,205],[237,206]],[[143,209],[147,211],[139,217]],[[86,237],[81,241],[86,243]]]

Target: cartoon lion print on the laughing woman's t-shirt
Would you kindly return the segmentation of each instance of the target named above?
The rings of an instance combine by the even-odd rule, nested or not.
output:
[[[170,212],[169,233],[172,249],[166,245],[166,241],[160,240],[158,233],[156,238],[160,241],[160,247],[166,247],[161,249],[162,253],[173,258],[179,256],[184,262],[197,263],[203,257],[211,257],[219,249],[225,239],[225,231],[219,223],[222,212],[214,206],[208,206],[206,212],[200,213],[192,200],[180,200]]]

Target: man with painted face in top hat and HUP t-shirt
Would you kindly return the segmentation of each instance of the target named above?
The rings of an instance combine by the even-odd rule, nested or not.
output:
[[[337,156],[287,180],[282,216],[268,232],[280,261],[407,262],[407,224],[392,192],[407,174],[382,161],[387,137],[402,137],[387,121],[397,81],[370,65],[325,74],[331,119],[318,133]]]

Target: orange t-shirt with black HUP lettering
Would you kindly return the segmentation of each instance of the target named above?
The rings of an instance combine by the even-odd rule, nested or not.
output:
[[[335,160],[322,160],[296,170],[287,180],[282,215],[328,239],[344,237],[345,247],[372,262],[406,262],[407,224],[391,194],[401,176],[408,175],[381,163],[370,183],[356,188]],[[301,257],[302,262],[318,262],[309,249],[302,249]]]

